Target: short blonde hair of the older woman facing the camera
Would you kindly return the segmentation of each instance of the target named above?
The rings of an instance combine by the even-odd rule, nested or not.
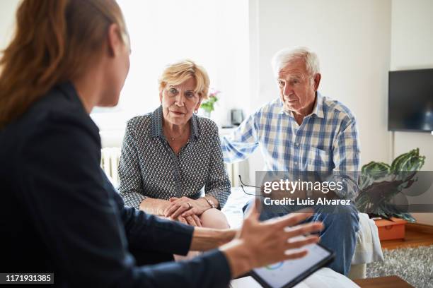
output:
[[[166,66],[158,79],[159,91],[166,88],[167,84],[179,85],[190,78],[195,79],[195,92],[202,99],[207,99],[210,83],[209,76],[207,76],[207,72],[202,66],[188,59]]]

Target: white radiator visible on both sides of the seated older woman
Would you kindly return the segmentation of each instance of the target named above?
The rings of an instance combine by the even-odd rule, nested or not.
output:
[[[117,174],[117,168],[119,167],[120,160],[120,148],[103,148],[101,150],[100,167],[107,174],[108,179],[114,186],[119,184],[119,174]],[[229,180],[231,186],[239,186],[239,163],[227,164],[225,163],[227,174],[229,174]]]

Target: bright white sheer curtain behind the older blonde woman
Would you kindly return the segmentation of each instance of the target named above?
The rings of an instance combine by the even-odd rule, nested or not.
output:
[[[164,66],[192,59],[221,90],[214,113],[229,122],[229,109],[248,96],[248,0],[118,0],[131,37],[131,68],[119,105],[95,109],[101,131],[125,126],[132,116],[159,105],[158,76]]]

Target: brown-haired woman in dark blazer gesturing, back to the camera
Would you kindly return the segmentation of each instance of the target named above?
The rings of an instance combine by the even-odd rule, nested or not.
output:
[[[253,209],[235,237],[124,207],[99,167],[98,128],[88,115],[117,104],[129,69],[114,0],[24,0],[0,69],[0,272],[54,273],[32,279],[57,287],[226,287],[252,268],[302,257],[284,251],[318,241],[288,243],[320,224],[284,232],[311,213],[259,223]]]

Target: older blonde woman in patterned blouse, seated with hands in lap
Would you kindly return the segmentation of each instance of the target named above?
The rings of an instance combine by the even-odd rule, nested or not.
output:
[[[125,205],[194,226],[229,226],[221,212],[230,181],[218,128],[196,115],[208,90],[207,72],[192,61],[163,71],[161,106],[127,123],[119,164]]]

